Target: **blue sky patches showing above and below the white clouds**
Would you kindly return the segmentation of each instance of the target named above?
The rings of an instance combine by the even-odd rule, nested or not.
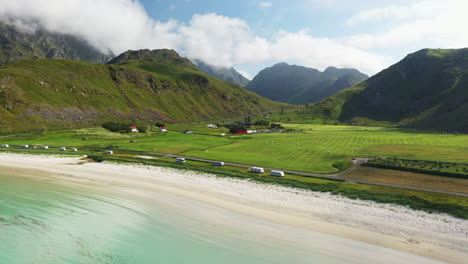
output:
[[[177,20],[181,23],[190,23],[192,17],[196,14],[214,13],[230,18],[239,18],[248,23],[252,31],[258,36],[271,39],[278,31],[298,32],[304,29],[314,38],[349,38],[363,34],[375,34],[391,31],[392,27],[398,26],[389,19],[376,19],[372,23],[362,23],[349,26],[348,20],[366,10],[384,10],[392,7],[417,6],[427,2],[428,5],[434,1],[418,0],[238,0],[238,1],[216,1],[216,0],[142,0],[142,4],[148,14],[155,20],[168,21]],[[440,1],[439,2],[443,2]],[[460,3],[454,1],[453,3]],[[450,5],[450,1],[447,2]],[[454,7],[455,8],[455,7]],[[416,7],[417,9],[417,7]],[[416,11],[415,11],[416,12]],[[415,18],[416,20],[416,18]],[[437,42],[437,41],[435,41]],[[387,57],[388,62],[396,62],[407,53],[426,47],[437,48],[436,43],[424,43],[423,41],[408,46],[395,45],[392,48],[375,48],[372,52]],[[468,43],[467,43],[468,44]],[[463,45],[461,45],[463,46]],[[453,45],[453,47],[461,47]],[[450,45],[441,45],[440,47],[451,47]],[[363,58],[365,59],[365,58]],[[279,62],[281,59],[272,58],[261,63],[243,64],[234,63],[234,66],[246,75],[252,77],[259,69]],[[314,63],[304,63],[297,59],[285,59],[289,63],[307,64],[306,66],[323,69],[323,63],[314,65]],[[388,64],[387,62],[387,64]],[[330,64],[331,65],[331,64]],[[341,67],[352,67],[353,65],[334,65]],[[381,66],[382,68],[382,66]],[[369,74],[379,70],[371,67],[361,69]]]

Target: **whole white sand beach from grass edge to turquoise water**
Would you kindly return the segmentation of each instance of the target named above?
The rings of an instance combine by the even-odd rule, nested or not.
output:
[[[468,221],[403,206],[175,169],[0,154],[0,173],[139,199],[246,239],[348,263],[466,263]],[[390,249],[390,250],[389,250]]]

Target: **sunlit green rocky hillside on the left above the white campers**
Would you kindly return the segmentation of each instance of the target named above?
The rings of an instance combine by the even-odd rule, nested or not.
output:
[[[117,58],[108,65],[60,59],[0,65],[0,132],[111,120],[221,120],[286,106],[192,69],[174,51],[129,51]]]

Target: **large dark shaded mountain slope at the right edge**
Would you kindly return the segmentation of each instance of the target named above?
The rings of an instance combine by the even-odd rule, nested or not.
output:
[[[424,49],[308,110],[352,124],[468,132],[468,49]]]

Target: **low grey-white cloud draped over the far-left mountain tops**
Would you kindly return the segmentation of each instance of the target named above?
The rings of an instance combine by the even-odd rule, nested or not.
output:
[[[132,0],[0,0],[0,20],[86,39],[101,50],[177,47],[177,23],[150,19]],[[19,22],[18,22],[19,23]],[[18,24],[17,23],[17,24]]]

